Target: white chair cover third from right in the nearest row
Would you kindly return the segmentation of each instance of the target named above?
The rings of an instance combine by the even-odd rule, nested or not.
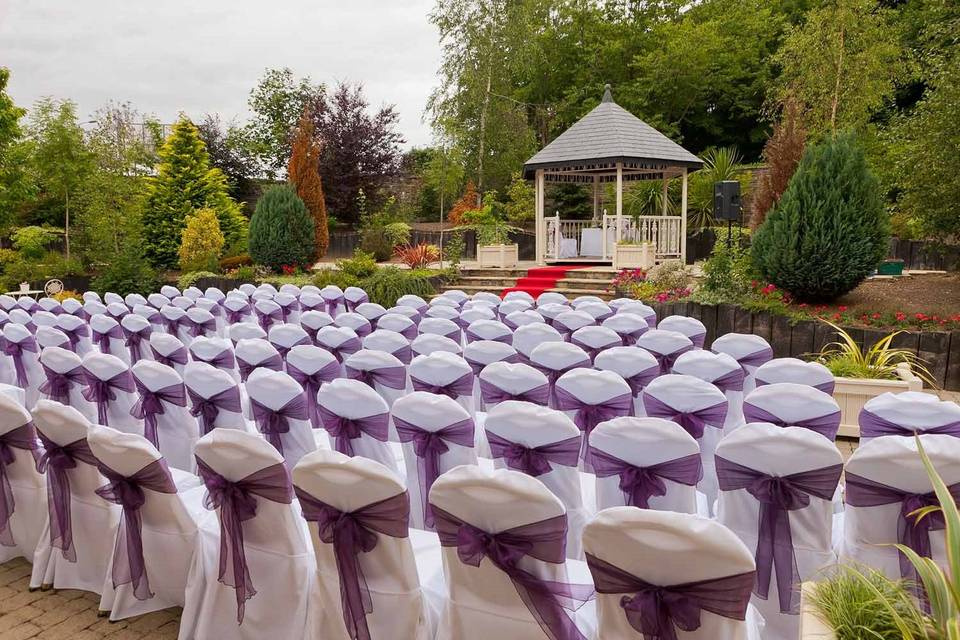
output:
[[[301,496],[305,494],[308,499],[342,513],[362,510],[406,491],[403,481],[390,469],[336,451],[315,451],[304,456],[293,470],[293,482]],[[312,603],[314,623],[309,637],[348,640],[334,545],[320,539],[317,523],[308,526],[318,587]],[[370,531],[376,546],[357,556],[370,596],[371,610],[365,618],[370,636],[432,640],[436,621],[431,620],[424,603],[410,537]]]

